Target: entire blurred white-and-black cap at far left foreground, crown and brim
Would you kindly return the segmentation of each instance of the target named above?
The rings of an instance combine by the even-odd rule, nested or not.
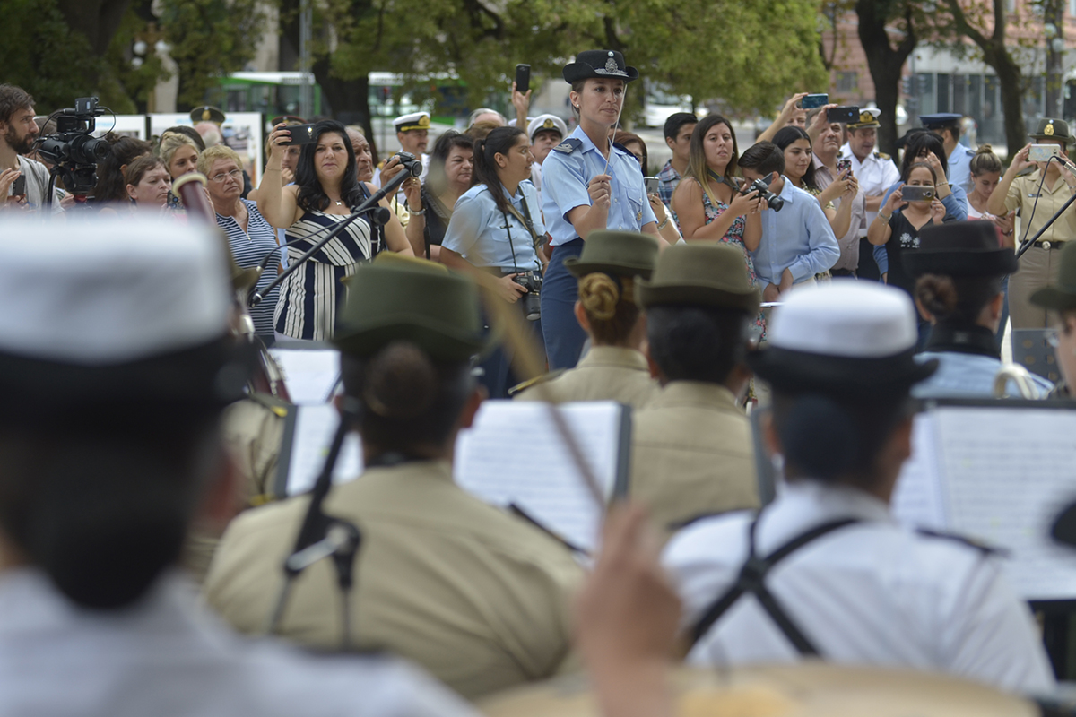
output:
[[[0,386],[16,413],[242,397],[250,361],[226,340],[233,298],[215,226],[13,218],[5,229]]]

